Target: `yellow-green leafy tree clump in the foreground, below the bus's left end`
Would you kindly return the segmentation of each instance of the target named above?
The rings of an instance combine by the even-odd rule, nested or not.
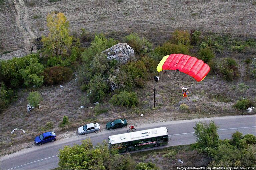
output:
[[[59,167],[61,169],[133,169],[129,154],[119,155],[108,149],[103,142],[95,148],[90,139],[82,140],[81,145],[65,146],[60,149]]]

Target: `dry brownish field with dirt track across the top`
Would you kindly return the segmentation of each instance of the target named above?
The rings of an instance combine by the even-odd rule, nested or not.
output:
[[[1,6],[1,52],[29,48],[31,37],[47,35],[46,15],[52,11],[65,14],[70,30],[134,31],[154,44],[163,42],[175,29],[255,37],[253,1],[5,1],[5,4]],[[35,15],[42,18],[33,19]],[[39,28],[44,31],[38,31]]]

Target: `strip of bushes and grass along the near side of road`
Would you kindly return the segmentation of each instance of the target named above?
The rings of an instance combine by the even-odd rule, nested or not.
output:
[[[175,169],[177,166],[255,167],[255,136],[235,131],[232,139],[219,139],[218,126],[198,122],[195,144],[171,146],[136,153],[117,154],[108,143],[93,147],[89,139],[82,145],[60,149],[57,169]],[[77,161],[79,159],[80,161]]]

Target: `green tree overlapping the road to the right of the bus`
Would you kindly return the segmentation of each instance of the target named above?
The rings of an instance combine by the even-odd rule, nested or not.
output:
[[[217,147],[219,144],[219,135],[217,129],[219,127],[211,120],[209,125],[206,123],[198,122],[194,127],[194,133],[197,137],[197,145],[202,147]]]

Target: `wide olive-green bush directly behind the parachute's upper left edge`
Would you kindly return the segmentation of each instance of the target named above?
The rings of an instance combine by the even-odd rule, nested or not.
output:
[[[165,55],[169,54],[189,54],[188,47],[183,44],[176,45],[171,42],[165,42],[162,46],[155,47],[153,52],[151,53],[151,57],[156,60],[160,61]]]

